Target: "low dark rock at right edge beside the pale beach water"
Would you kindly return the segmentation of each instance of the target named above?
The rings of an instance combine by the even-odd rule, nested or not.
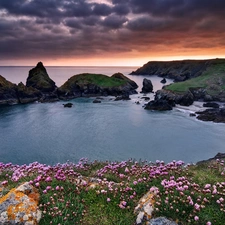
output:
[[[197,119],[202,121],[212,121],[215,123],[225,123],[225,108],[206,109],[197,112]]]

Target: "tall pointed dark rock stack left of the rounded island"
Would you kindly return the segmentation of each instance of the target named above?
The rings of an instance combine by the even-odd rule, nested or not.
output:
[[[36,88],[43,93],[53,92],[56,89],[55,82],[48,76],[42,62],[29,71],[26,86]]]

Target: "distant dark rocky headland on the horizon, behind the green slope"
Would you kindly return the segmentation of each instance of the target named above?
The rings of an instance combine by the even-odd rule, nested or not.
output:
[[[131,75],[158,75],[175,82],[184,81],[200,76],[215,60],[150,61],[133,71]]]

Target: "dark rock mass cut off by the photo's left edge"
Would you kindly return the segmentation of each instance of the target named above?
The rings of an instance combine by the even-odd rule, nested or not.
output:
[[[0,75],[0,105],[13,105],[19,103],[17,86]]]

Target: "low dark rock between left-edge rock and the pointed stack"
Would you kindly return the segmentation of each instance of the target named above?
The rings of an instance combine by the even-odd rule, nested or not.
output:
[[[27,87],[22,82],[17,86],[17,94],[19,102],[22,104],[38,101],[42,97],[39,90],[33,87]]]

